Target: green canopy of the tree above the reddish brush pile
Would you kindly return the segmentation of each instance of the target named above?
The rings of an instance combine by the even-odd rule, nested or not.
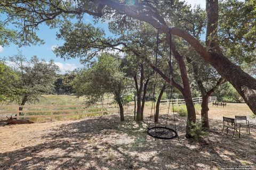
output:
[[[59,67],[52,60],[46,62],[33,56],[27,61],[24,56],[18,54],[10,57],[10,61],[13,63],[13,70],[20,78],[17,88],[21,89],[22,93],[15,98],[18,104],[34,103],[42,94],[50,94],[53,91],[53,83]]]

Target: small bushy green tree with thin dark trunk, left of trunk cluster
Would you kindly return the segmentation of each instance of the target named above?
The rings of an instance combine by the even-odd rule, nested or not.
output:
[[[86,96],[89,103],[101,101],[105,94],[114,95],[119,105],[121,121],[124,121],[123,104],[130,95],[129,80],[122,72],[118,56],[103,53],[89,69],[82,70],[74,80],[78,96]]]

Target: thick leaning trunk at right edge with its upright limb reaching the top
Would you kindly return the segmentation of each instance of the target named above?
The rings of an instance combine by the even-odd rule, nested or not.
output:
[[[211,56],[205,58],[219,73],[228,80],[243,97],[246,104],[256,115],[256,79],[245,73],[223,55],[218,44],[218,1],[206,0],[207,31],[206,46],[210,47]]]

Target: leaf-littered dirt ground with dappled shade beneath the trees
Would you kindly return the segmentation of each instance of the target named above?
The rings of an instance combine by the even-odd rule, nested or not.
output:
[[[232,138],[231,132],[221,133],[222,121],[209,115],[209,134],[196,141],[185,138],[186,117],[175,116],[180,141],[149,137],[148,117],[137,123],[132,114],[125,122],[114,114],[0,126],[0,169],[256,169],[255,123],[250,135],[242,129],[241,138]]]

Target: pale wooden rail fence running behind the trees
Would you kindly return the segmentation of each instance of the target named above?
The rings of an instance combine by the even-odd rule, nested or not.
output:
[[[210,101],[216,101],[217,97],[210,97]],[[161,100],[162,105],[166,105],[170,100]],[[173,105],[185,105],[185,99],[173,99]],[[171,101],[171,102],[172,102]],[[193,98],[193,103],[201,103],[202,97]],[[134,106],[134,104],[129,104]],[[126,109],[129,108],[126,106]],[[22,108],[22,111],[20,111]],[[119,108],[117,105],[98,104],[93,106],[87,105],[58,105],[58,106],[40,106],[40,105],[7,105],[0,106],[0,120],[5,119],[6,116],[13,118],[32,118],[32,117],[53,117],[57,116],[78,116],[81,118],[83,115],[90,114],[103,114],[103,113],[117,113]],[[20,114],[19,114],[20,113]]]

